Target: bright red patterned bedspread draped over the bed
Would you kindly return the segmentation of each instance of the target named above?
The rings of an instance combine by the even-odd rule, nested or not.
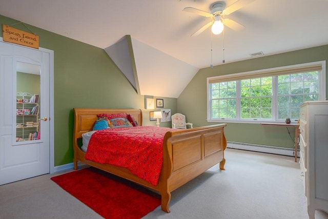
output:
[[[170,130],[174,129],[136,126],[99,130],[90,138],[86,159],[125,167],[155,186],[163,163],[163,138]]]

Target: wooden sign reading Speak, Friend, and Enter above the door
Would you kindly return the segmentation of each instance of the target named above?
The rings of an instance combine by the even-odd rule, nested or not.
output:
[[[19,44],[23,46],[39,48],[39,36],[18,30],[7,25],[2,25],[3,39],[5,42]]]

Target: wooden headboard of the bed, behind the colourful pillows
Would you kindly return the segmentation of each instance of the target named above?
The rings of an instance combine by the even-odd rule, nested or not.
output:
[[[73,108],[74,112],[74,133],[73,138],[81,138],[83,133],[92,131],[92,128],[100,113],[116,114],[126,112],[131,114],[142,125],[142,113],[140,109],[90,109],[90,108]]]

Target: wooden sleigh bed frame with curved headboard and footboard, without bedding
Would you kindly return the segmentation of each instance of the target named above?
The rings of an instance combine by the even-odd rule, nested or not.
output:
[[[169,203],[172,191],[218,163],[220,169],[224,170],[224,163],[226,162],[224,150],[227,147],[227,141],[224,137],[223,128],[227,124],[183,130],[168,129],[163,138],[163,162],[158,183],[153,185],[133,174],[127,168],[87,160],[86,153],[80,148],[82,134],[92,131],[98,114],[125,112],[132,115],[141,126],[141,110],[74,108],[73,111],[74,169],[77,169],[77,162],[81,162],[155,190],[161,195],[161,209],[165,212],[170,212]]]

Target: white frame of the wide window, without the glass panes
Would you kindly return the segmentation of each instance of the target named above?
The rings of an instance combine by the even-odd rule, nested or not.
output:
[[[318,101],[324,101],[325,95],[326,95],[326,61],[318,61],[318,62],[312,62],[312,63],[304,63],[304,64],[298,64],[298,65],[290,65],[290,66],[282,66],[277,68],[270,68],[270,69],[261,69],[256,71],[248,71],[248,72],[240,72],[235,74],[227,74],[227,75],[220,75],[220,76],[214,76],[214,77],[208,77],[207,78],[207,122],[229,122],[229,123],[262,123],[262,122],[282,122],[282,121],[275,121],[275,115],[276,115],[276,108],[277,108],[277,99],[275,98],[277,93],[277,83],[274,82],[275,79],[273,79],[273,94],[274,99],[272,102],[272,119],[271,120],[238,120],[238,119],[231,119],[231,118],[211,118],[211,89],[210,84],[213,81],[239,81],[241,78],[245,78],[247,76],[253,77],[258,75],[258,77],[262,77],[262,75],[266,72],[279,72],[279,71],[285,71],[289,69],[306,69],[307,67],[311,66],[321,66],[321,71],[319,71],[319,98]],[[273,77],[275,78],[275,77]],[[239,86],[237,86],[237,89],[240,89]],[[240,114],[240,97],[236,97],[236,114]],[[294,122],[294,121],[293,121]]]

